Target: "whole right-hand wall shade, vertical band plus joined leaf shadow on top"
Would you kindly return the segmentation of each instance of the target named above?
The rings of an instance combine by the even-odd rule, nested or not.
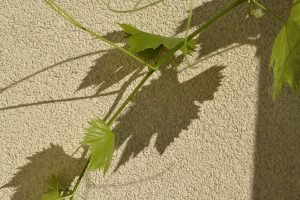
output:
[[[210,1],[195,8],[192,26],[198,26],[230,2]],[[291,8],[291,1],[261,3],[283,19]],[[300,95],[285,88],[273,102],[273,75],[268,69],[272,45],[282,23],[268,14],[260,19],[244,20],[246,12],[247,7],[241,6],[201,34],[199,57],[235,43],[256,48],[260,76],[252,199],[300,199]],[[178,33],[184,31],[186,22],[178,28]]]

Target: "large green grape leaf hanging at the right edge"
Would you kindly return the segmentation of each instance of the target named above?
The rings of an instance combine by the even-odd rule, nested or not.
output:
[[[275,39],[270,67],[274,71],[274,100],[285,84],[294,91],[299,90],[300,0],[293,1],[291,14]]]

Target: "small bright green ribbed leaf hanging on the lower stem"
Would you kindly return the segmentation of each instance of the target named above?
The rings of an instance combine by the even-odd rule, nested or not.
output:
[[[115,137],[108,125],[101,119],[96,118],[89,122],[82,144],[90,147],[91,157],[89,169],[103,169],[104,174],[110,166]]]

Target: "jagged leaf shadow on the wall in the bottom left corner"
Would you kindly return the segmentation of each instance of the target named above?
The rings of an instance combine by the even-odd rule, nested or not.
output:
[[[80,158],[74,158],[66,154],[61,146],[51,144],[50,148],[28,157],[29,162],[20,167],[10,182],[1,188],[15,188],[11,200],[40,200],[48,189],[49,177],[55,175],[62,188],[68,189],[87,162],[86,152],[87,149]]]

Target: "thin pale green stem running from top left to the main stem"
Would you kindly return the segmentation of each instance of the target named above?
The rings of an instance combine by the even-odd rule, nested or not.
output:
[[[60,16],[62,16],[65,20],[67,20],[68,22],[70,22],[71,24],[73,24],[75,27],[80,28],[81,30],[84,30],[85,32],[87,32],[88,34],[96,37],[97,39],[101,40],[102,42],[105,42],[107,44],[109,44],[110,46],[120,50],[121,52],[125,53],[126,55],[130,56],[131,58],[133,58],[134,60],[138,61],[139,63],[153,69],[156,70],[155,67],[153,67],[151,64],[145,62],[144,60],[140,59],[139,57],[137,57],[136,55],[134,55],[133,53],[131,53],[130,51],[127,51],[126,49],[118,46],[116,43],[109,41],[108,39],[100,36],[99,34],[97,34],[95,31],[84,27],[80,22],[78,22],[74,17],[72,17],[71,15],[69,15],[64,9],[62,9],[58,4],[56,4],[53,0],[44,0],[55,12],[57,12]]]

